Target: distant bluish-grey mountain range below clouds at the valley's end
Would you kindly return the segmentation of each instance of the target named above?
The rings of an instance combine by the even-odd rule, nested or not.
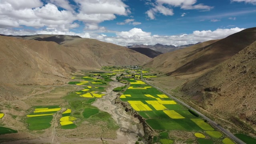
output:
[[[196,44],[200,44],[201,42],[198,42]],[[166,53],[166,52],[172,52],[174,50],[186,48],[189,46],[193,46],[195,44],[187,44],[183,46],[173,46],[173,45],[163,45],[163,44],[155,44],[154,46],[152,45],[144,45],[144,44],[134,44],[132,46],[126,46],[126,48],[150,48],[151,50]]]

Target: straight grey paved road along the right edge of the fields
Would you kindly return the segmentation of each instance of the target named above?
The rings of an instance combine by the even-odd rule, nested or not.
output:
[[[170,98],[176,100],[177,102],[179,102],[180,104],[182,104],[183,106],[186,106],[187,108],[189,108],[190,110],[194,110],[194,112],[197,112],[202,118],[206,119],[210,124],[212,124],[213,126],[215,126],[216,128],[218,128],[220,131],[222,131],[224,134],[226,134],[228,137],[230,137],[232,140],[234,140],[234,142],[238,143],[238,144],[245,144],[242,140],[236,138],[236,136],[234,136],[233,134],[231,134],[230,132],[228,132],[226,129],[222,128],[221,126],[218,126],[218,124],[216,124],[216,122],[212,121],[210,118],[204,116],[203,114],[201,114],[200,112],[198,112],[197,110],[195,110],[194,108],[192,108],[191,106],[189,106],[188,104],[185,104],[184,102],[182,102],[181,100],[179,100],[178,98],[175,98],[174,96],[168,94],[167,92],[165,92],[164,90],[158,88],[157,86],[154,86],[153,84],[150,84],[148,81],[143,79],[142,76],[142,71],[140,71],[140,76],[141,76],[141,80],[144,81],[146,84],[156,88],[157,90],[159,90],[160,92],[166,94],[167,96],[169,96]]]

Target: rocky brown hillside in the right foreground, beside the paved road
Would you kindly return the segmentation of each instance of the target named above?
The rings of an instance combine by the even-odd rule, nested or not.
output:
[[[248,33],[245,31],[244,34]],[[236,125],[240,125],[238,119],[246,121],[255,130],[256,41],[209,72],[185,84],[182,91],[209,112]],[[244,130],[252,133],[254,131],[247,127]]]

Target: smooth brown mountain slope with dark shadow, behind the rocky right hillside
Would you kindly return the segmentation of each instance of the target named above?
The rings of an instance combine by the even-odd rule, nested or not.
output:
[[[222,40],[202,42],[155,57],[145,66],[170,75],[195,74],[210,70],[256,40],[256,28],[248,28]]]

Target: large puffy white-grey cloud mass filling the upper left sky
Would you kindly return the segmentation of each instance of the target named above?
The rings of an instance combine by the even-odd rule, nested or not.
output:
[[[122,0],[0,0],[0,28],[56,28],[67,31],[82,21],[86,30],[102,30],[100,22],[114,20],[116,15],[128,16],[129,7]],[[59,10],[61,7],[64,10]],[[76,9],[77,11],[75,11]],[[132,24],[132,23],[131,23]],[[139,24],[135,22],[133,25]]]

